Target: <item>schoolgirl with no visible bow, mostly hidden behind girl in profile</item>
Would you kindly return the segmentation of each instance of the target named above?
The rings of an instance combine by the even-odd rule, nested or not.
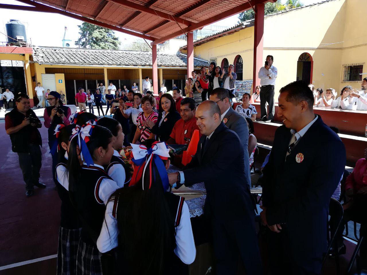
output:
[[[119,154],[119,151],[123,147],[124,133],[122,132],[122,127],[120,122],[113,118],[103,117],[97,122],[98,125],[106,127],[112,133],[114,143],[113,143],[113,156],[111,158],[111,163],[105,166],[107,174],[117,183],[119,188],[124,187],[131,180],[130,172],[126,169],[125,163]]]

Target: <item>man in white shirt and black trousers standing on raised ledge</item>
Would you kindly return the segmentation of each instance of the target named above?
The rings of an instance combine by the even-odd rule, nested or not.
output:
[[[273,121],[275,114],[274,107],[274,85],[278,75],[278,69],[273,66],[273,56],[266,56],[265,66],[261,67],[258,73],[260,78],[260,108],[261,121]],[[268,118],[266,118],[266,103],[269,104]]]

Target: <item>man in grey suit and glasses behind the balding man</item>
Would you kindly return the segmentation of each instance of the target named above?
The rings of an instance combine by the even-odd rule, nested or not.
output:
[[[250,161],[248,156],[248,127],[247,122],[242,115],[232,109],[228,90],[224,88],[215,88],[210,92],[210,100],[218,104],[221,109],[222,121],[225,126],[235,132],[240,138],[244,150],[245,173],[248,186],[251,187],[250,179]],[[228,144],[231,146],[232,144]]]

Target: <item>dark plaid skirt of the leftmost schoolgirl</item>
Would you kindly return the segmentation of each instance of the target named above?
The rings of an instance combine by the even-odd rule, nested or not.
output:
[[[76,274],[76,255],[78,251],[81,228],[66,229],[60,227],[57,249],[57,275]]]

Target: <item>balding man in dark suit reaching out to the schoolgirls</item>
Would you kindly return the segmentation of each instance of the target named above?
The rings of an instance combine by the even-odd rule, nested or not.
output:
[[[217,274],[237,274],[239,256],[246,274],[261,274],[254,205],[246,184],[242,144],[222,122],[215,102],[201,103],[195,116],[203,136],[186,169],[168,174],[170,184],[191,186],[204,182],[204,213],[211,219]]]

